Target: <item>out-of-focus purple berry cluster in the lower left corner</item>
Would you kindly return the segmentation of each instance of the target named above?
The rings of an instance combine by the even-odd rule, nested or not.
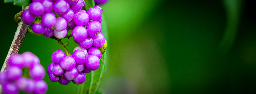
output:
[[[31,52],[13,54],[8,59],[9,67],[5,73],[0,73],[0,84],[5,94],[17,94],[18,90],[27,93],[44,94],[48,86],[44,80],[45,69],[40,60]],[[29,70],[31,78],[22,77],[22,68]]]

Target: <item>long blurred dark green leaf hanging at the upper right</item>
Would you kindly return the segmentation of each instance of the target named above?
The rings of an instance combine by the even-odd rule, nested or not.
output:
[[[227,23],[224,36],[219,44],[219,52],[223,55],[232,47],[238,28],[238,22],[241,14],[241,8],[243,5],[242,0],[223,0],[224,7],[227,13]]]

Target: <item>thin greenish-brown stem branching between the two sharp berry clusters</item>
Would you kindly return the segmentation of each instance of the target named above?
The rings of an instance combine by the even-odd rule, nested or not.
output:
[[[31,33],[31,34],[38,35],[38,36],[44,36],[43,34],[36,34],[36,33],[33,32],[31,29],[28,29],[28,30],[27,30],[27,33]],[[72,37],[72,34],[66,35],[64,38],[68,38],[68,39],[69,39],[69,37]],[[68,42],[67,42],[66,45],[64,45],[64,44],[62,43],[62,41],[61,41],[62,38],[59,39],[59,38],[56,38],[55,36],[52,36],[52,37],[50,37],[50,38],[55,39],[56,41],[58,41],[58,43],[59,43],[59,44],[63,47],[63,49],[66,51],[67,55],[68,55],[68,56],[71,56],[71,54],[69,53],[69,51],[68,51],[67,48],[66,48],[66,46],[69,44]]]

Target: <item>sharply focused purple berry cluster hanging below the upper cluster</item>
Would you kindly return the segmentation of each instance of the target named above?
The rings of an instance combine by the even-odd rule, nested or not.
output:
[[[78,46],[72,56],[66,56],[62,50],[57,50],[52,54],[53,62],[47,66],[46,71],[52,82],[58,81],[62,85],[67,85],[72,81],[74,84],[82,84],[86,78],[84,73],[97,70],[100,58],[101,52],[95,47],[88,49],[87,53],[86,49]]]

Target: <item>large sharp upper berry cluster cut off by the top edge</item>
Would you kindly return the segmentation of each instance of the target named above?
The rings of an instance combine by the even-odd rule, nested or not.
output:
[[[100,6],[91,7],[86,12],[81,10],[85,5],[84,0],[32,1],[29,9],[21,13],[21,19],[25,24],[31,25],[31,29],[37,34],[43,33],[46,37],[64,38],[68,27],[75,27],[75,33],[72,32],[72,34],[75,40],[80,42],[84,41],[87,36],[92,38],[101,32],[102,8]],[[35,21],[35,17],[38,18],[37,21]],[[80,37],[87,33],[86,26],[88,26],[86,28],[88,35]]]

